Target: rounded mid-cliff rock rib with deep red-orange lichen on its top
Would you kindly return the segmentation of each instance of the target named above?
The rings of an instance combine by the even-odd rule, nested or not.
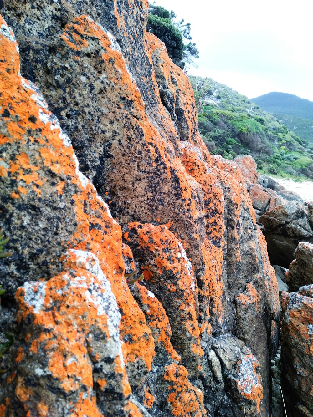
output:
[[[174,348],[178,349],[183,361],[187,358],[190,361],[192,357],[193,361],[200,363],[203,350],[194,299],[195,279],[182,244],[166,226],[132,222],[128,231],[136,252],[140,253],[142,268],[151,268],[154,279],[146,281],[147,288],[162,296],[165,305],[172,306],[167,310],[167,316]]]

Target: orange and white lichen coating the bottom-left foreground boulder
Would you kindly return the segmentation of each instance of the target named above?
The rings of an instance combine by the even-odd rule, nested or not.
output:
[[[89,413],[91,409],[92,415],[100,416],[101,413],[96,407],[96,397],[91,394],[93,371],[89,358],[93,358],[94,363],[97,361],[99,369],[102,369],[107,355],[104,354],[102,357],[97,351],[97,342],[93,341],[94,332],[98,332],[101,337],[101,344],[104,344],[106,339],[111,340],[112,347],[114,343],[116,345],[116,356],[112,358],[113,362],[110,362],[112,365],[108,374],[98,374],[96,377],[100,392],[106,395],[106,389],[109,389],[111,393],[114,380],[119,395],[123,392],[127,399],[131,394],[120,349],[118,307],[114,304],[109,282],[93,254],[69,251],[64,265],[67,270],[49,281],[26,283],[17,291],[18,320],[22,324],[24,318],[33,317],[34,325],[43,329],[38,338],[28,338],[29,350],[45,351],[48,370],[54,384],[58,381],[59,389],[66,393],[68,401],[71,399],[73,402],[72,415],[83,415],[83,411],[87,411],[89,407]],[[109,324],[110,320],[116,322],[116,327]],[[19,361],[21,366],[24,357],[25,355]],[[45,368],[46,364],[40,363],[38,366]],[[15,393],[23,402],[32,395],[31,389],[24,388],[21,379],[18,379]],[[80,393],[80,399],[77,393]],[[40,392],[40,395],[44,393]]]

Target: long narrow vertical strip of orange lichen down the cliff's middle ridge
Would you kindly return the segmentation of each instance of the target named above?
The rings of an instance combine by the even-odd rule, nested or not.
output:
[[[216,174],[197,148],[189,143],[179,143],[182,162],[187,172],[201,185],[204,198],[204,216],[206,222],[206,239],[202,245],[205,272],[198,278],[201,332],[209,329],[211,323],[222,325],[224,309],[224,284],[222,282],[222,265],[226,247],[225,241],[225,199]],[[209,311],[210,309],[210,311]]]

